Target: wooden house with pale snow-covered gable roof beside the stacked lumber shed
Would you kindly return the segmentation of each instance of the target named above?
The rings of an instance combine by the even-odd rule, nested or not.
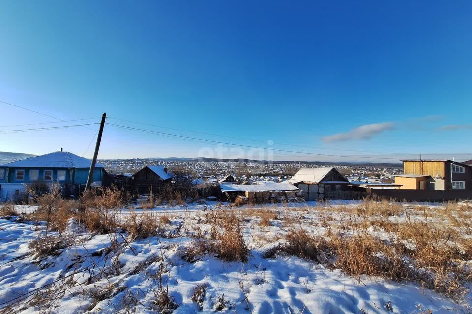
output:
[[[307,201],[344,198],[341,192],[350,190],[350,182],[334,167],[301,168],[289,182],[305,193]]]

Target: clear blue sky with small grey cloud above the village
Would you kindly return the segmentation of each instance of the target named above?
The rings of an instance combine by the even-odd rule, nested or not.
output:
[[[297,152],[471,153],[471,14],[471,1],[1,1],[0,100],[91,120],[0,103],[0,130],[106,111],[109,123]],[[56,123],[12,126],[43,122]],[[90,157],[87,128],[0,133],[0,151]],[[99,157],[217,147],[107,125]]]

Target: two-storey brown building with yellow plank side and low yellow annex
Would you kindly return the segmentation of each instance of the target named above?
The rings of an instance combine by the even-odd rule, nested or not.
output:
[[[452,160],[402,161],[405,174],[395,176],[395,184],[404,185],[403,189],[408,186],[412,187],[411,189],[472,190],[472,166],[470,165]],[[408,178],[407,175],[416,176]]]

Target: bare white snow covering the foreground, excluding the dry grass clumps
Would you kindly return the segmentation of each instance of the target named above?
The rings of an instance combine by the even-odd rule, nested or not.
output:
[[[303,204],[303,207],[300,205],[303,211],[297,211],[294,207],[287,214],[299,215],[301,212],[304,219],[300,220],[300,224],[307,232],[322,234],[324,227],[316,224],[319,213],[311,211],[311,206],[356,206],[357,203],[310,202]],[[159,206],[153,212],[170,214],[170,229],[185,222],[184,229],[191,234],[196,228],[207,228],[202,218],[206,212],[219,210],[220,206],[216,202]],[[230,209],[229,205],[224,204],[223,207]],[[270,208],[280,212],[287,210],[280,205]],[[35,207],[17,206],[16,209],[31,212]],[[246,208],[231,209],[244,211]],[[135,209],[137,212],[140,210]],[[122,209],[121,214],[126,216],[129,210]],[[332,212],[330,215],[333,219],[339,219],[338,213]],[[401,217],[388,219],[395,221]],[[76,221],[70,220],[64,234],[52,235],[60,236],[71,244],[57,256],[38,260],[33,257],[29,243],[38,235],[44,235],[45,227],[0,219],[0,307],[9,304],[14,298],[20,297],[21,300],[23,294],[34,292],[44,285],[49,286],[42,290],[58,293],[62,291],[59,287],[63,283],[61,278],[64,278],[72,279],[73,282],[59,297],[56,298],[53,293],[47,301],[37,297],[36,302],[27,304],[24,300],[24,308],[15,307],[14,310],[19,313],[44,313],[46,309],[52,309],[52,313],[83,313],[93,307],[90,313],[125,313],[129,306],[127,302],[135,297],[138,302],[130,313],[157,313],[148,308],[154,296],[153,290],[158,287],[156,274],[163,265],[159,262],[162,257],[165,262],[162,282],[179,305],[173,312],[176,314],[198,312],[197,304],[190,299],[197,284],[208,286],[202,313],[214,313],[217,296],[224,296],[228,301],[227,309],[223,312],[229,313],[391,314],[389,308],[393,309],[393,313],[420,313],[427,309],[434,314],[470,313],[465,306],[434,291],[423,290],[414,283],[397,283],[366,276],[353,278],[339,269],[329,270],[297,257],[262,258],[261,254],[266,249],[281,241],[275,238],[286,232],[286,229],[275,221],[271,226],[259,227],[257,218],[252,219],[243,226],[244,240],[252,254],[247,263],[223,262],[211,255],[190,263],[181,258],[182,252],[192,241],[189,235],[183,234],[176,238],[151,237],[132,242],[130,245],[136,252],[134,255],[120,235],[90,235]],[[370,228],[369,231],[387,238],[383,230]],[[110,270],[117,253],[101,253],[111,247],[114,237],[120,244],[119,274]],[[143,269],[137,269],[138,265],[146,261],[152,262]],[[104,269],[108,275],[99,277]],[[89,277],[93,280],[88,284]],[[245,288],[250,309],[244,301],[240,282]],[[125,288],[94,305],[94,293],[104,291],[111,284],[115,288]],[[468,295],[466,300],[470,304],[471,296]]]

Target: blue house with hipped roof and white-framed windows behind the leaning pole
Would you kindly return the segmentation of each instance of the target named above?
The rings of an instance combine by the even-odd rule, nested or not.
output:
[[[0,165],[0,199],[10,200],[26,191],[32,183],[55,183],[70,189],[87,183],[90,159],[70,152],[54,152]],[[92,182],[101,184],[104,166],[96,163]]]

